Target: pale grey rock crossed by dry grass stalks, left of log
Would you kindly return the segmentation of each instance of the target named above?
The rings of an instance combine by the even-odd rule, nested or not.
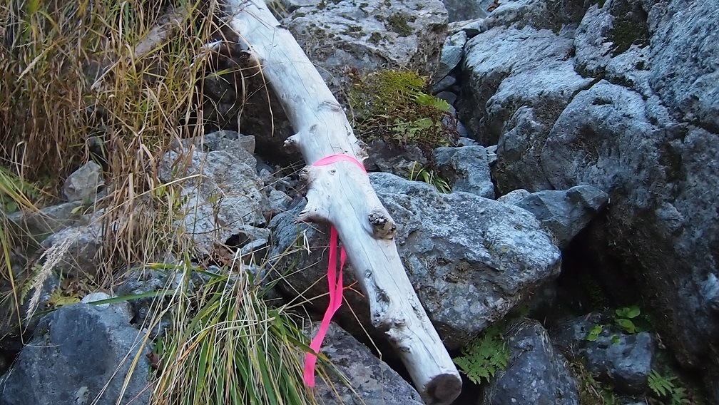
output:
[[[265,224],[269,203],[261,191],[257,160],[246,149],[249,145],[252,141],[244,137],[216,137],[203,145],[170,151],[162,159],[162,181],[188,178],[181,183],[184,225],[205,254],[212,252],[215,242],[224,243],[237,235],[244,225]],[[219,149],[211,150],[213,146]]]

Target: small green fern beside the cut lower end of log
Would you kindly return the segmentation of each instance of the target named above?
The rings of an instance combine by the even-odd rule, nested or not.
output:
[[[462,355],[454,358],[459,370],[476,384],[482,383],[482,378],[489,381],[497,370],[507,368],[509,349],[503,340],[500,325],[494,325],[485,331],[484,335],[472,340],[462,349]]]

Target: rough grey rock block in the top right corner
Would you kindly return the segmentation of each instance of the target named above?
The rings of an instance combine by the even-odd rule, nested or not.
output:
[[[651,38],[651,87],[683,122],[719,133],[719,1],[672,1]]]

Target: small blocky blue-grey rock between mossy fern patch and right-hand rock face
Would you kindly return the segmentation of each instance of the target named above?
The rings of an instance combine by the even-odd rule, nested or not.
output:
[[[465,191],[485,199],[495,198],[484,147],[438,147],[432,156],[441,175],[452,184],[452,191]]]

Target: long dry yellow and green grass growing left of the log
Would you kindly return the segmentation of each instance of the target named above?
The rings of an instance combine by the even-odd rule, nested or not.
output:
[[[101,164],[108,186],[94,207],[104,226],[100,286],[112,288],[133,265],[193,257],[191,237],[178,225],[185,214],[180,188],[188,179],[163,184],[157,166],[173,142],[203,135],[203,114],[211,104],[203,96],[203,79],[228,73],[212,65],[210,44],[224,37],[220,19],[214,0],[9,0],[0,5],[0,166],[57,195],[79,165],[90,159]],[[12,243],[2,242],[6,268],[0,276],[12,284],[12,299],[6,301],[12,301],[20,322],[17,292],[25,281],[9,271]],[[26,285],[46,278],[52,262],[46,260]],[[178,289],[170,304],[157,301],[151,322],[172,315],[173,327],[163,342],[174,347],[166,356],[176,361],[158,376],[155,402],[174,404],[181,398],[183,404],[207,404],[189,392],[193,388],[178,391],[187,386],[173,385],[190,383],[215,395],[214,403],[311,403],[298,360],[302,350],[297,347],[306,345],[284,309],[265,305],[240,273],[205,276],[209,281],[202,293]],[[205,347],[212,350],[194,350]],[[191,380],[196,356],[207,360],[211,382]]]

